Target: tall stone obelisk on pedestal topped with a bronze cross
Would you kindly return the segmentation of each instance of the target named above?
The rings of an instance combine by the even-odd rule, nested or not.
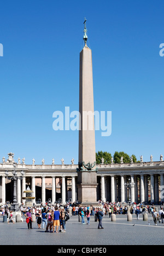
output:
[[[95,121],[93,102],[92,51],[87,46],[86,20],[84,21],[84,48],[80,52],[79,90],[79,168],[78,202],[82,205],[97,203],[97,168],[95,149]]]

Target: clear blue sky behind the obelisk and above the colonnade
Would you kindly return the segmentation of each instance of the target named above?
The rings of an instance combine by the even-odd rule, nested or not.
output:
[[[3,1],[0,162],[78,163],[78,131],[54,131],[52,113],[79,109],[79,53],[87,19],[95,110],[112,111],[112,135],[96,151],[164,155],[163,0]]]

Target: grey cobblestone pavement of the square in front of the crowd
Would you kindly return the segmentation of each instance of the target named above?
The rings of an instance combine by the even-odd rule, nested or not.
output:
[[[86,218],[85,218],[86,222]],[[150,222],[150,225],[149,225]],[[132,222],[127,216],[117,215],[116,223],[109,216],[103,217],[104,229],[97,229],[98,223],[91,217],[90,225],[82,225],[78,216],[70,217],[66,222],[66,232],[45,233],[32,223],[33,229],[28,230],[27,224],[3,223],[0,217],[1,245],[164,245],[164,224],[154,225],[153,218],[143,221],[142,215],[137,220],[133,214]]]

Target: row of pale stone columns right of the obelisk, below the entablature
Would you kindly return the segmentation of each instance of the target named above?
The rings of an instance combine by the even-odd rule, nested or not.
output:
[[[163,173],[140,175],[101,175],[101,200],[110,202],[128,201],[127,179],[130,178],[130,195],[132,202],[164,201],[162,191]],[[133,185],[134,184],[134,185]],[[164,194],[164,193],[163,193]]]

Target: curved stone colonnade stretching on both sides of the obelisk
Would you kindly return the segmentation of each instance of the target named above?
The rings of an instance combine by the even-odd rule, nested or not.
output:
[[[164,162],[142,162],[133,164],[109,164],[97,165],[97,201],[124,202],[128,201],[129,190],[125,186],[128,179],[132,185],[130,196],[132,202],[159,202],[164,201]],[[67,178],[71,178],[72,201],[78,200],[77,189],[78,165],[17,165],[17,173],[24,170],[25,175],[17,180],[17,202],[22,203],[25,197],[27,184],[36,197],[36,179],[42,179],[42,191],[40,197],[43,203],[46,201],[46,178],[51,178],[51,200],[56,201],[56,178],[61,179],[61,201],[67,200]],[[13,166],[0,164],[0,203],[6,201],[5,170],[12,175]],[[28,181],[28,182],[27,182]],[[30,182],[29,182],[30,181]],[[162,193],[163,192],[163,193]],[[12,197],[12,196],[11,196]],[[35,203],[36,200],[33,200]]]

